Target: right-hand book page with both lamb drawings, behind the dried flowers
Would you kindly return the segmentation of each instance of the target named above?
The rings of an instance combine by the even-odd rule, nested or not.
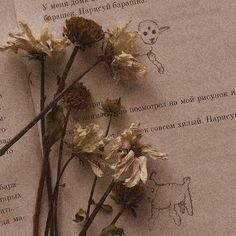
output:
[[[167,161],[150,165],[155,174],[155,182],[149,181],[154,189],[151,201],[142,204],[137,218],[127,213],[119,220],[126,234],[235,235],[235,1],[17,0],[15,4],[17,19],[35,31],[45,19],[61,35],[65,18],[83,16],[101,22],[104,29],[131,21],[129,27],[139,33],[146,77],[135,85],[117,85],[101,65],[83,79],[95,109],[80,117],[82,123],[105,127],[107,119],[97,106],[107,97],[121,97],[126,112],[113,124],[114,136],[131,122],[140,122],[145,139],[169,154]],[[169,30],[157,37],[165,26]],[[57,60],[54,69],[48,69],[48,75],[54,75],[48,76],[49,92],[55,90],[56,75],[66,61]],[[94,60],[91,53],[79,53],[70,78]],[[32,80],[37,103],[37,73]],[[91,176],[79,163],[65,173],[61,235],[78,234],[80,226],[72,219],[86,206]],[[100,196],[103,184],[98,189]],[[101,213],[89,235],[97,235],[111,218]]]

